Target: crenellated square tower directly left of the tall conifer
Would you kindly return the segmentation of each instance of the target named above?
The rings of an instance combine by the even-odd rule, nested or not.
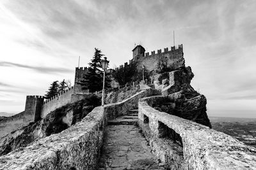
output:
[[[81,85],[81,81],[84,80],[84,77],[86,76],[87,73],[88,73],[87,67],[76,67],[74,94],[88,92],[86,90],[82,90],[82,85]]]

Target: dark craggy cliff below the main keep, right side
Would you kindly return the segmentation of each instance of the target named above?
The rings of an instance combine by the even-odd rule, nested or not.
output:
[[[166,96],[166,99],[161,103],[155,101],[153,107],[170,115],[186,118],[198,124],[211,127],[206,113],[207,100],[204,95],[196,92],[190,85],[193,77],[194,74],[191,71],[191,67],[183,67],[170,72],[169,82],[164,79],[162,80],[162,85],[160,85],[162,86],[161,92],[163,96]],[[166,84],[169,85],[167,86]]]

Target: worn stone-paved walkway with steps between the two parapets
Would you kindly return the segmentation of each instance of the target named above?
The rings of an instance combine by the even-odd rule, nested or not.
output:
[[[104,134],[104,144],[99,169],[164,169],[150,152],[146,139],[136,122],[138,110],[109,121]]]

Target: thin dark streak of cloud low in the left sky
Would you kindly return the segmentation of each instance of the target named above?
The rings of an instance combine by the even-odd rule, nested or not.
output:
[[[0,66],[4,67],[22,67],[27,69],[33,69],[35,71],[38,71],[40,73],[70,73],[72,72],[71,69],[61,68],[61,67],[40,67],[40,66],[28,66],[25,64],[17,64],[13,62],[0,62]]]

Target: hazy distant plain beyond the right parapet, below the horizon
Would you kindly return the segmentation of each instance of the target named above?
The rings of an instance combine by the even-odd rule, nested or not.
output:
[[[256,118],[209,117],[212,129],[256,148]]]

